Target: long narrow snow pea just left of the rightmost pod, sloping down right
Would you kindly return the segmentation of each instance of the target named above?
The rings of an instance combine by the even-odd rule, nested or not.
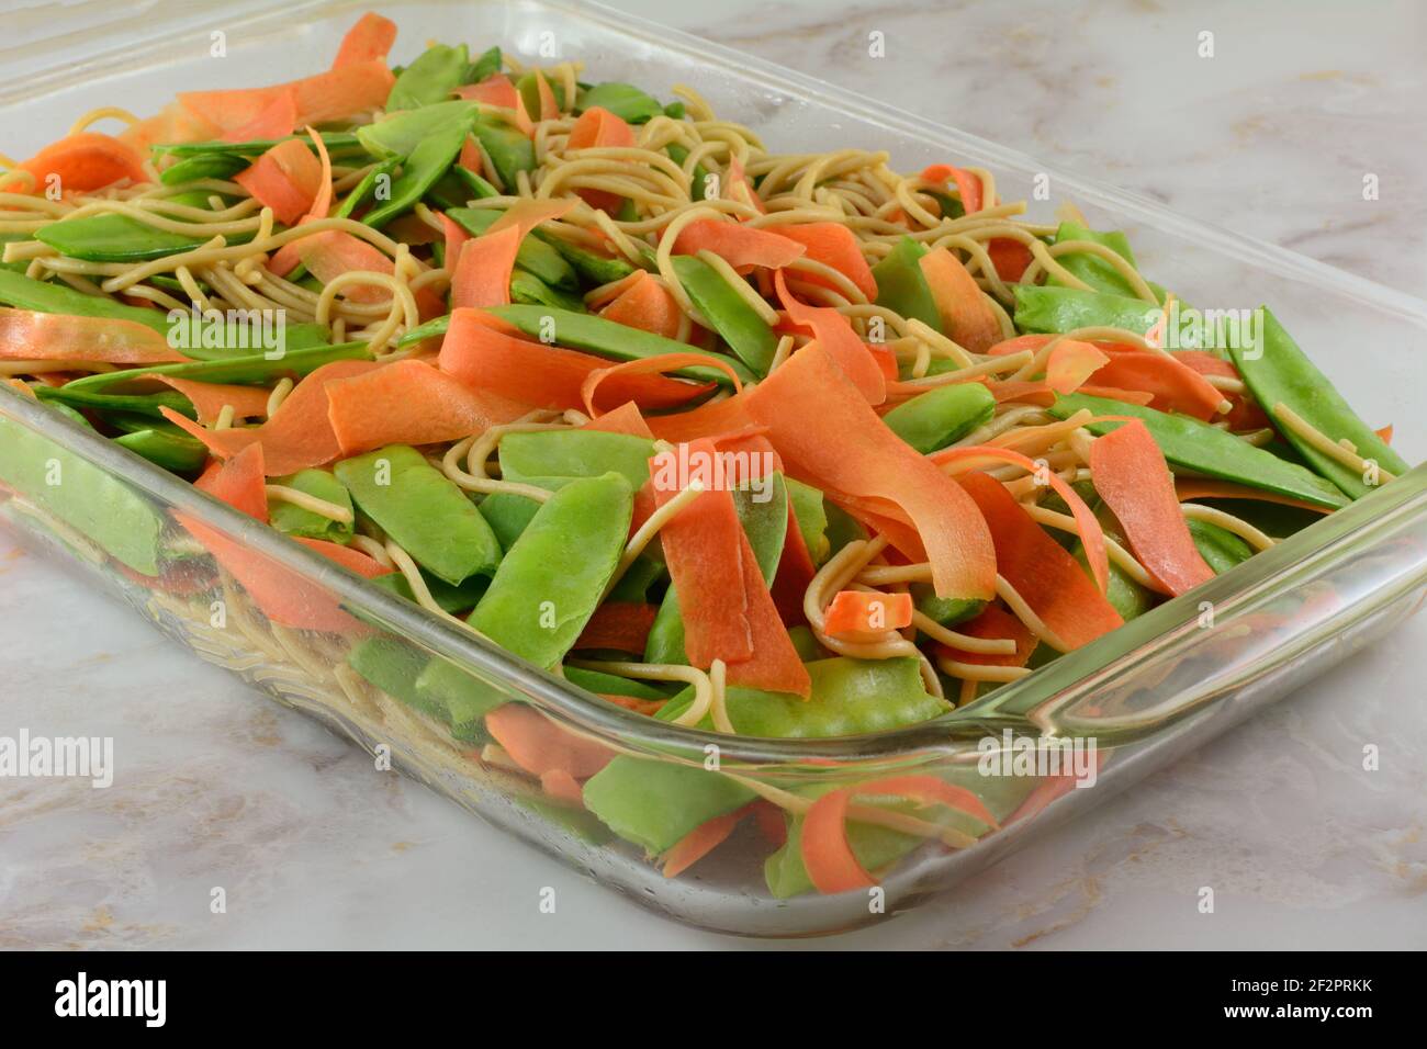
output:
[[[1329,510],[1339,510],[1349,502],[1337,488],[1311,471],[1187,415],[1170,415],[1154,408],[1085,394],[1057,397],[1050,414],[1056,418],[1069,418],[1082,408],[1089,408],[1096,415],[1133,415],[1143,420],[1154,444],[1172,465],[1222,481],[1237,481],[1253,488],[1291,495]],[[1096,434],[1107,434],[1122,425],[1124,424],[1092,422],[1089,428]]]

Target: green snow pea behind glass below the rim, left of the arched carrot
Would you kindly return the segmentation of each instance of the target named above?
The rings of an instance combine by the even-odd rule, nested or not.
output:
[[[585,782],[585,808],[651,855],[694,828],[742,808],[751,789],[698,765],[619,755]]]

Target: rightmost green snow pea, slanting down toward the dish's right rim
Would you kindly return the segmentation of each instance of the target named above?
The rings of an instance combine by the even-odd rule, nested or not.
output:
[[[1327,377],[1283,330],[1269,307],[1261,307],[1260,315],[1263,317],[1259,333],[1261,353],[1254,355],[1241,345],[1230,345],[1229,354],[1263,410],[1271,417],[1274,405],[1283,404],[1309,425],[1323,431],[1329,440],[1351,441],[1364,460],[1373,460],[1393,474],[1407,472],[1410,467],[1403,457],[1357,417]],[[1359,471],[1324,455],[1277,420],[1274,425],[1316,472],[1341,488],[1349,498],[1360,500],[1373,491],[1371,485],[1363,482]]]

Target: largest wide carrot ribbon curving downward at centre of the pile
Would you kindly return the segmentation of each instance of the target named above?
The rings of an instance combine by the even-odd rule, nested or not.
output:
[[[976,507],[888,430],[826,350],[803,347],[742,400],[792,477],[915,524],[940,597],[990,598],[996,555]]]

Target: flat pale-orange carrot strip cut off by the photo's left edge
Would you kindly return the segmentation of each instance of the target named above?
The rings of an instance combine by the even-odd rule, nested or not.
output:
[[[167,364],[188,358],[138,321],[0,307],[0,360]]]

